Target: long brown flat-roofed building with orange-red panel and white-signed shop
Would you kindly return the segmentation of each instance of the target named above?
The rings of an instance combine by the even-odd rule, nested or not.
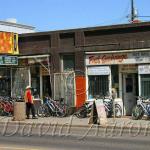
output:
[[[65,98],[80,107],[91,96],[111,94],[113,88],[124,115],[131,115],[137,96],[149,96],[149,37],[150,22],[23,34],[20,58],[50,56],[48,72],[54,99]],[[29,66],[34,72],[32,86],[40,82],[38,92],[43,96],[41,85],[45,82],[43,86],[48,86],[49,81],[35,79],[38,74],[41,79],[41,71],[35,72]],[[70,87],[73,97],[65,95]]]

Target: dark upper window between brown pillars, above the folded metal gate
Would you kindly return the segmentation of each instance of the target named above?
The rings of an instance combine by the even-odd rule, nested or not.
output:
[[[63,55],[63,71],[73,71],[75,68],[75,56]]]

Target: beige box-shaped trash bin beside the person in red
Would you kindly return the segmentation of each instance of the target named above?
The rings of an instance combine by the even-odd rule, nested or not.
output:
[[[25,102],[14,102],[13,121],[23,121],[26,119]]]

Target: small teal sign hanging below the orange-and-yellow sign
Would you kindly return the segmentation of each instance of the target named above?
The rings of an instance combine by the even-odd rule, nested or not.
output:
[[[0,65],[18,65],[18,57],[0,56]]]

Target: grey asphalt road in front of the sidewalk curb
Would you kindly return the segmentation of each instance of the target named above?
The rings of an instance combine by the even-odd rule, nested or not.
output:
[[[148,128],[150,129],[150,128]],[[137,129],[0,124],[0,150],[147,150],[150,132]]]

